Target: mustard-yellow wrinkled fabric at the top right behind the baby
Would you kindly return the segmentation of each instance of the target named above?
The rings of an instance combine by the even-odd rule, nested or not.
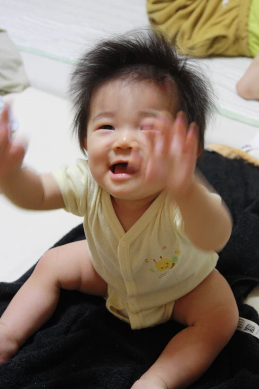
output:
[[[147,0],[151,27],[191,57],[246,56],[251,0]]]

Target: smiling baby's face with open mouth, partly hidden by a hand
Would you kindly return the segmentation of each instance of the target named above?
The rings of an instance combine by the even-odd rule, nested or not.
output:
[[[94,93],[85,148],[93,177],[114,198],[152,199],[164,189],[144,175],[153,123],[165,110],[168,93],[149,81],[113,80]]]

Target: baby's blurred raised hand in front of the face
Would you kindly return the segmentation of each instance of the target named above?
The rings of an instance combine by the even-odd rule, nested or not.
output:
[[[164,182],[174,198],[184,196],[194,180],[198,154],[198,127],[188,125],[184,112],[176,119],[162,112],[154,121],[154,132],[149,132],[151,153],[146,166],[148,180]]]

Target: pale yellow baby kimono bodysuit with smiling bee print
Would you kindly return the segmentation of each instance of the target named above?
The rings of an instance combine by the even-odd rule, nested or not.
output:
[[[165,191],[125,232],[87,160],[53,174],[67,211],[84,217],[91,262],[108,283],[106,307],[132,329],[169,320],[174,301],[214,269],[218,255],[188,239],[180,210]]]

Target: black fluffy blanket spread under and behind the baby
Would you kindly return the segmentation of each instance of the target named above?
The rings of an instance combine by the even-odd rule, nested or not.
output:
[[[234,222],[217,268],[234,291],[240,316],[259,323],[257,312],[243,304],[259,282],[259,168],[210,152],[198,166]],[[80,225],[56,245],[83,238]],[[16,282],[0,284],[0,313],[32,270]],[[103,299],[62,291],[53,317],[0,366],[0,389],[128,389],[182,328],[171,321],[132,331],[106,310]],[[258,389],[259,340],[236,331],[191,388]]]

